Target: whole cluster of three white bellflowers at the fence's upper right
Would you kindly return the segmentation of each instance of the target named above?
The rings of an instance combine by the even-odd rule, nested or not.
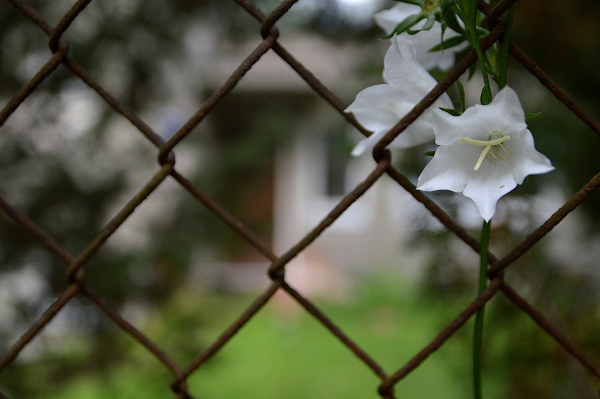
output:
[[[375,21],[391,32],[419,8],[399,3],[375,14]],[[419,27],[415,25],[415,29]],[[458,35],[446,29],[446,35],[453,33]],[[385,54],[385,83],[362,90],[346,109],[373,132],[358,143],[352,154],[373,149],[435,87],[437,82],[427,70],[446,70],[454,65],[456,52],[464,47],[429,51],[439,44],[441,36],[442,26],[436,22],[430,30],[392,37]],[[489,221],[500,197],[523,183],[526,176],[554,169],[549,159],[535,149],[523,107],[510,87],[500,90],[490,104],[477,104],[460,116],[451,116],[439,108],[453,108],[445,93],[387,146],[408,148],[433,140],[439,145],[418,178],[418,190],[463,192],[475,202],[482,218]]]

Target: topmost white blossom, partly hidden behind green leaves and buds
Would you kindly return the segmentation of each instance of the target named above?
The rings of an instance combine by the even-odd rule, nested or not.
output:
[[[420,13],[420,11],[420,6],[416,6],[415,4],[398,3],[389,8],[389,10],[375,13],[373,18],[375,18],[375,23],[388,34],[406,17]],[[426,20],[422,20],[411,29],[418,30],[425,25],[425,22]],[[458,33],[446,27],[444,40],[454,36],[458,36]],[[442,24],[437,21],[435,21],[430,30],[421,30],[415,35],[408,35],[407,32],[404,32],[399,35],[399,39],[406,40],[413,45],[416,51],[417,62],[427,70],[434,68],[449,70],[454,66],[456,53],[463,51],[468,46],[467,42],[463,42],[458,44],[458,46],[444,49],[444,51],[429,51],[429,49],[442,42]]]

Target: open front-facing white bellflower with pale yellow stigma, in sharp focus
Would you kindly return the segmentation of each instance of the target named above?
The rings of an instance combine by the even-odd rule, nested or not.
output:
[[[510,87],[490,104],[471,106],[461,116],[436,109],[432,125],[440,147],[420,174],[418,190],[462,192],[485,221],[494,216],[500,197],[526,176],[554,169],[535,149],[523,107]]]

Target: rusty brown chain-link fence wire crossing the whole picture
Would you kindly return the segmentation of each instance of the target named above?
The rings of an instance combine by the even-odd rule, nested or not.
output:
[[[408,373],[413,371],[416,367],[419,367],[428,356],[440,348],[448,338],[450,338],[458,329],[461,329],[470,317],[473,316],[485,303],[491,300],[494,296],[501,293],[511,300],[517,307],[523,312],[529,315],[540,329],[546,331],[556,343],[560,345],[563,350],[568,352],[576,360],[578,360],[583,367],[589,370],[590,373],[600,378],[600,367],[594,362],[585,352],[582,352],[577,347],[577,344],[571,340],[566,333],[561,329],[556,328],[551,322],[549,322],[543,314],[537,309],[532,307],[519,293],[508,286],[503,279],[503,271],[511,266],[517,259],[519,259],[525,252],[530,250],[532,246],[542,240],[546,234],[549,233],[558,223],[577,208],[598,186],[600,185],[600,174],[596,174],[594,178],[589,180],[580,190],[573,195],[562,207],[560,207],[548,220],[546,220],[542,226],[539,226],[530,235],[523,240],[520,244],[516,245],[513,250],[508,252],[504,257],[496,257],[494,254],[489,254],[489,286],[487,289],[478,297],[476,297],[467,307],[465,307],[460,314],[458,314],[454,320],[452,320],[447,326],[439,331],[439,334],[431,340],[422,350],[414,355],[414,357],[406,364],[398,364],[398,368],[392,370],[392,372],[385,371],[382,369],[380,364],[375,358],[373,358],[368,352],[363,350],[349,335],[346,335],[344,331],[339,329],[336,325],[335,320],[329,319],[321,310],[315,306],[311,300],[308,300],[304,295],[299,293],[294,287],[289,285],[286,281],[285,269],[287,264],[298,254],[306,249],[313,241],[318,240],[320,234],[325,231],[332,223],[335,223],[336,219],[341,216],[346,209],[352,206],[352,204],[358,200],[365,192],[367,192],[373,184],[382,176],[387,175],[396,181],[404,190],[409,192],[415,200],[423,204],[423,206],[430,211],[449,231],[454,233],[456,237],[460,238],[466,245],[473,248],[475,252],[480,251],[480,244],[472,238],[467,231],[456,223],[450,216],[438,207],[435,202],[432,202],[430,198],[425,196],[423,192],[415,190],[415,186],[401,173],[399,170],[394,168],[391,164],[391,156],[385,151],[386,145],[391,142],[396,135],[401,132],[415,121],[427,107],[429,107],[435,100],[444,93],[468,68],[476,62],[476,55],[474,51],[471,51],[465,56],[447,75],[439,82],[439,84],[425,96],[415,107],[397,123],[389,133],[383,137],[380,143],[375,147],[373,151],[373,157],[376,161],[376,166],[373,171],[364,178],[364,180],[356,185],[354,190],[351,190],[345,197],[330,211],[325,219],[320,221],[313,230],[308,233],[305,237],[301,238],[296,245],[289,248],[287,252],[277,256],[273,250],[270,249],[269,245],[263,243],[263,240],[258,237],[253,231],[244,226],[244,223],[239,221],[236,216],[230,214],[220,204],[213,202],[204,192],[199,190],[190,180],[185,176],[182,176],[177,172],[177,163],[173,154],[173,149],[177,144],[191,134],[194,128],[203,122],[204,118],[213,111],[217,106],[237,85],[239,80],[244,78],[246,72],[268,51],[273,51],[275,54],[289,64],[290,67],[306,82],[306,85],[311,87],[311,90],[318,94],[325,102],[330,104],[339,114],[346,118],[348,123],[354,125],[365,135],[368,132],[358,124],[353,116],[348,113],[344,113],[346,104],[342,102],[336,94],[331,92],[317,76],[313,75],[310,70],[306,69],[301,60],[296,59],[294,55],[290,54],[284,45],[278,40],[280,33],[277,30],[276,23],[282,16],[289,11],[297,0],[286,0],[282,1],[279,6],[273,9],[268,15],[263,14],[251,1],[247,0],[235,0],[235,3],[249,13],[258,21],[257,35],[260,34],[262,41],[256,48],[247,55],[246,59],[239,63],[239,66],[231,73],[230,77],[222,82],[220,87],[211,94],[206,102],[189,118],[187,123],[180,128],[168,140],[164,141],[160,135],[158,135],[146,122],[139,118],[133,111],[131,111],[126,104],[120,102],[118,99],[113,97],[111,93],[104,90],[92,76],[90,76],[70,55],[68,43],[63,41],[62,37],[66,30],[70,27],[71,23],[77,18],[82,10],[91,3],[92,0],[79,0],[69,9],[63,16],[60,22],[56,26],[51,26],[44,20],[44,17],[40,15],[34,8],[27,5],[25,1],[20,0],[9,0],[13,6],[27,16],[31,20],[31,23],[37,25],[39,29],[43,30],[49,37],[49,47],[51,49],[51,56],[46,61],[45,65],[31,78],[26,85],[19,90],[12,99],[4,106],[0,111],[0,125],[4,125],[4,122],[10,118],[11,114],[18,109],[20,104],[27,99],[30,94],[35,92],[37,87],[50,75],[52,75],[58,66],[65,66],[70,70],[73,75],[77,76],[82,82],[92,88],[108,106],[113,109],[115,113],[120,114],[123,118],[127,119],[132,125],[137,128],[140,134],[144,135],[153,145],[156,146],[158,154],[158,167],[154,176],[147,181],[146,185],[139,190],[127,204],[118,211],[118,213],[109,221],[106,226],[96,235],[96,237],[89,242],[89,245],[85,247],[80,254],[70,254],[61,247],[61,244],[56,242],[51,235],[46,233],[42,228],[39,228],[34,221],[29,219],[27,215],[23,214],[19,209],[11,206],[4,200],[0,199],[0,207],[6,215],[8,215],[15,223],[18,223],[25,231],[30,233],[32,236],[39,240],[41,245],[56,254],[65,264],[65,278],[68,282],[67,288],[63,290],[58,299],[52,303],[44,312],[42,317],[39,317],[34,323],[31,324],[30,328],[23,333],[20,338],[13,343],[10,350],[2,355],[0,360],[0,372],[3,369],[11,367],[11,364],[20,355],[20,352],[29,345],[32,340],[47,326],[50,321],[61,312],[61,309],[65,305],[73,300],[74,297],[82,296],[87,297],[92,301],[96,307],[101,309],[113,322],[118,326],[123,333],[128,334],[134,340],[151,352],[158,362],[161,362],[168,371],[173,374],[173,382],[171,389],[177,398],[192,398],[193,392],[189,392],[187,388],[187,379],[189,376],[196,372],[200,372],[198,369],[204,362],[207,362],[211,357],[219,352],[227,342],[235,336],[235,334],[252,319],[258,312],[261,311],[263,306],[267,304],[273,295],[277,291],[285,291],[292,297],[296,302],[306,309],[306,312],[311,314],[317,319],[325,328],[330,331],[334,336],[339,339],[341,345],[345,345],[346,348],[354,352],[358,362],[363,362],[365,367],[370,369],[371,372],[375,373],[380,378],[380,386],[378,392],[382,398],[394,398],[394,386],[399,383]],[[497,6],[491,8],[488,4],[480,1],[480,10],[487,14],[486,24],[489,27],[489,35],[482,39],[482,49],[488,49],[494,42],[499,40],[504,32],[505,25],[501,19],[502,14],[510,6],[512,6],[516,0],[500,1]],[[539,66],[536,65],[532,59],[530,59],[519,47],[515,44],[511,44],[511,54],[515,60],[523,64],[525,68],[535,76],[549,90],[554,96],[563,102],[563,104],[570,109],[580,120],[587,124],[589,128],[600,135],[600,124],[596,121],[587,111],[577,104],[575,99],[559,87]],[[123,318],[115,309],[101,296],[94,293],[89,288],[89,283],[92,281],[86,281],[85,279],[85,268],[89,259],[94,257],[94,254],[102,247],[105,241],[117,231],[118,228],[127,220],[132,214],[136,207],[143,206],[144,200],[148,197],[156,188],[158,188],[165,179],[172,178],[179,183],[182,188],[189,191],[195,199],[201,204],[201,206],[208,208],[218,218],[229,226],[233,231],[244,238],[250,245],[256,248],[258,252],[263,254],[265,259],[270,262],[268,268],[268,276],[272,280],[270,286],[264,290],[263,293],[258,295],[254,302],[251,303],[237,319],[232,321],[230,326],[225,329],[220,336],[208,345],[208,348],[198,353],[195,360],[189,364],[177,364],[170,355],[159,347],[152,340],[147,338],[142,331],[136,328],[135,325]]]

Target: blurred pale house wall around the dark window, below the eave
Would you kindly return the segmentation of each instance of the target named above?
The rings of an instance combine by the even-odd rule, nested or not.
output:
[[[277,254],[289,250],[318,226],[343,197],[327,193],[325,135],[335,131],[332,124],[346,129],[347,123],[331,121],[318,111],[310,121],[299,126],[294,140],[277,152],[273,219]],[[349,156],[344,195],[368,176],[374,165],[368,154]],[[408,250],[411,230],[403,220],[414,203],[409,197],[396,183],[381,178],[289,264],[287,276],[299,276],[296,285],[310,288],[315,284],[314,276],[324,271],[339,276],[346,271],[363,274],[394,266],[415,274],[413,265],[421,254]]]

